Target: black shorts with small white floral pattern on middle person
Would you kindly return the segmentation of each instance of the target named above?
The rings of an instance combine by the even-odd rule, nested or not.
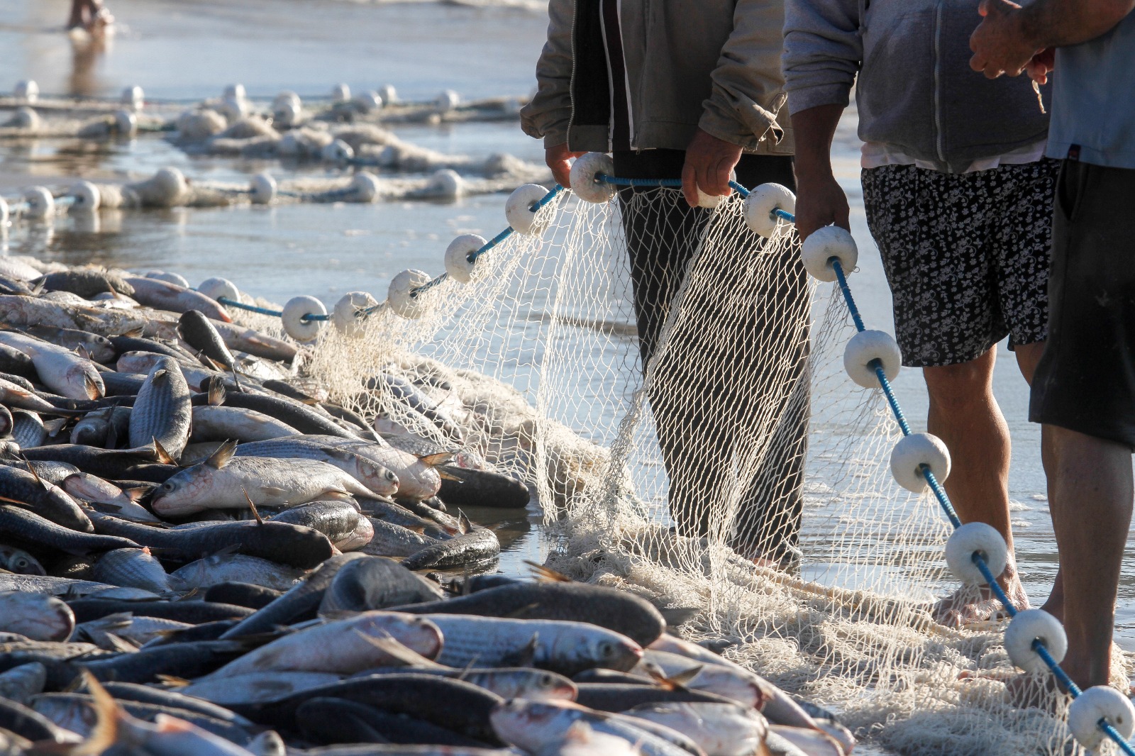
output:
[[[1010,334],[1044,341],[1059,168],[1043,158],[969,174],[864,169],[903,364],[968,362]]]

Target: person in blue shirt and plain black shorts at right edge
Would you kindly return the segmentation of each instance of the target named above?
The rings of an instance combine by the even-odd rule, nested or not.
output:
[[[1108,684],[1135,448],[1135,3],[985,0],[973,34],[989,77],[1056,70],[1049,156],[1063,159],[1052,215],[1052,325],[1029,420],[1044,423],[1060,573],[1045,611],[1063,623],[1062,666]],[[1059,48],[1053,56],[1053,48]],[[1003,81],[1003,79],[1002,79]],[[1010,81],[1022,86],[1022,82]]]

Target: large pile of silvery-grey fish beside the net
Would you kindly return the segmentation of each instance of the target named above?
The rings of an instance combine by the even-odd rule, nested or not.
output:
[[[499,543],[449,510],[524,485],[301,390],[300,347],[199,292],[0,258],[0,754],[854,746],[642,598],[474,574]],[[460,446],[428,383],[354,405]]]

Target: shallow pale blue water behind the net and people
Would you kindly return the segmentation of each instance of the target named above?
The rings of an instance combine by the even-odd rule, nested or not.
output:
[[[0,18],[5,19],[0,49],[8,52],[0,59],[0,90],[18,78],[33,77],[48,93],[110,96],[126,85],[140,84],[151,98],[202,98],[236,81],[250,94],[261,96],[281,89],[321,94],[339,81],[354,90],[392,83],[411,99],[432,98],[443,89],[466,96],[528,93],[535,83],[532,65],[543,44],[546,17],[524,10],[524,3],[479,5],[112,0],[111,10],[121,26],[104,51],[92,52],[74,47],[59,31],[67,6],[62,0],[0,0]],[[529,160],[541,156],[539,143],[511,123],[395,131],[447,152],[506,151]],[[836,169],[851,200],[860,246],[860,271],[852,285],[868,327],[891,330],[890,296],[864,221],[858,143],[850,119],[841,127],[838,151]],[[52,178],[148,174],[166,165],[195,178],[235,178],[266,167],[278,176],[289,175],[275,162],[190,158],[157,137],[98,151],[75,143],[41,142],[0,144],[0,188],[12,194],[18,187]],[[442,252],[453,235],[490,236],[503,228],[503,199],[102,213],[98,228],[64,219],[50,236],[18,228],[7,243],[12,253],[72,263],[176,270],[192,283],[220,275],[277,301],[305,293],[334,302],[353,289],[371,291],[381,299],[398,270],[439,270]],[[1018,562],[1031,597],[1040,603],[1056,573],[1056,548],[1044,498],[1039,428],[1027,422],[1027,390],[1003,345],[994,386],[1014,438],[1010,494]],[[923,429],[926,400],[920,377],[907,370],[896,388],[915,429]],[[535,512],[527,518],[491,511],[470,514],[499,526],[506,548],[503,569],[520,572],[523,560],[541,561],[546,555],[549,544]],[[824,565],[812,565],[808,574],[823,570]],[[1135,649],[1135,579],[1130,577],[1120,586],[1118,625],[1121,645]]]

